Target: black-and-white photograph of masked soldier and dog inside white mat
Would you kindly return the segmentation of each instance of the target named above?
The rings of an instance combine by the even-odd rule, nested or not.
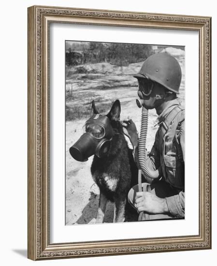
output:
[[[185,47],[65,42],[65,224],[185,219]]]

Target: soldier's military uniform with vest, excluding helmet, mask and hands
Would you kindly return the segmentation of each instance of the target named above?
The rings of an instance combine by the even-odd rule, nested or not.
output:
[[[156,170],[161,166],[162,175],[151,184],[143,183],[143,191],[155,193],[165,198],[169,213],[149,215],[149,220],[185,217],[185,110],[177,99],[169,101],[158,117],[159,129],[155,142],[148,153],[147,165]],[[138,152],[135,148],[135,162]],[[138,165],[139,166],[139,165]],[[146,180],[150,179],[145,177]],[[128,194],[129,203],[135,204],[138,185],[132,187]]]

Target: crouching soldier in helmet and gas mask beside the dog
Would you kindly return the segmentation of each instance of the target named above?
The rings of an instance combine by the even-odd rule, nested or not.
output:
[[[149,169],[160,170],[158,178],[145,176],[143,192],[138,185],[128,194],[128,201],[138,212],[145,211],[146,219],[184,218],[185,216],[185,110],[176,94],[181,83],[181,68],[169,54],[159,53],[148,57],[140,72],[135,74],[138,96],[143,106],[156,110],[159,129],[153,148],[147,153]],[[124,132],[130,137],[134,160],[139,165],[139,137],[134,122],[125,121]]]

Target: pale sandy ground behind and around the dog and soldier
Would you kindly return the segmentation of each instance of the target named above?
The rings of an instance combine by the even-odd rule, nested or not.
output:
[[[176,52],[176,51],[175,51]],[[180,100],[184,104],[184,55],[174,55],[182,68],[182,83],[180,88]],[[139,71],[141,63],[131,64],[129,67],[106,66],[108,63],[88,65],[86,74],[76,74],[76,69],[68,72],[66,80],[66,89],[73,85],[73,92],[76,95],[76,101],[71,104],[89,104],[91,99],[101,97],[101,101],[106,103],[114,102],[119,99],[121,102],[121,120],[130,116],[136,124],[138,132],[140,131],[141,109],[135,103],[137,98],[137,81],[132,77]],[[79,67],[79,66],[78,66]],[[77,68],[78,68],[77,67]],[[84,66],[82,66],[84,67]],[[94,71],[93,71],[94,69]],[[88,73],[89,72],[89,73]],[[94,72],[94,73],[93,73]],[[84,76],[86,76],[84,78]],[[81,89],[82,88],[82,89]],[[88,99],[85,94],[88,93]],[[97,102],[96,102],[97,106]],[[89,110],[91,105],[89,106]],[[109,109],[108,109],[109,111]],[[67,121],[66,122],[66,224],[87,224],[95,223],[97,208],[99,204],[99,188],[93,181],[90,173],[90,166],[93,156],[87,162],[81,163],[75,161],[69,148],[83,134],[82,126],[90,117]],[[149,124],[147,135],[147,149],[150,150],[157,127],[155,121],[157,115],[155,110],[149,111]],[[104,222],[113,222],[114,206],[107,204]],[[133,221],[133,220],[132,220]]]

